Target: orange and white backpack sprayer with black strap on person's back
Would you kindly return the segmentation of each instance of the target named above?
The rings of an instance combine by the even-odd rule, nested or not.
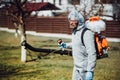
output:
[[[100,20],[100,17],[99,16],[93,16],[91,18],[89,18],[89,23],[91,23],[94,28],[101,28],[99,27],[99,24],[98,24],[98,21]],[[94,23],[97,22],[98,26],[94,25]],[[84,33],[87,31],[87,30],[90,30],[92,31],[91,29],[89,29],[89,25],[88,25],[88,28],[84,28],[83,31],[82,31],[82,34],[81,34],[81,41],[82,41],[82,44],[85,46],[84,44],[84,41],[83,41],[83,35]],[[105,36],[101,35],[101,31],[104,31],[105,28],[102,27],[100,29],[100,32],[95,32],[95,36],[94,36],[94,41],[95,41],[95,47],[96,47],[96,53],[97,53],[97,58],[102,58],[102,57],[108,57],[108,54],[107,54],[107,50],[109,49],[109,46],[108,46],[108,41],[106,39]]]

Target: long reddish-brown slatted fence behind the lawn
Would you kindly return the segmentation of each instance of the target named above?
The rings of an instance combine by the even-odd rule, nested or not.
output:
[[[27,31],[36,31],[42,33],[63,33],[71,34],[68,20],[65,17],[28,17],[25,20]],[[120,38],[120,22],[118,21],[106,21],[106,32],[104,33],[107,37]],[[14,25],[11,22],[11,18],[7,16],[0,16],[0,27],[7,27],[14,29]]]

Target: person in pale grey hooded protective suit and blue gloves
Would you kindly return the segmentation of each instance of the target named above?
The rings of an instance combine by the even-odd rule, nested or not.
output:
[[[66,43],[64,48],[72,48],[74,62],[72,80],[93,80],[96,65],[94,32],[90,30],[85,32],[83,37],[85,46],[83,46],[81,42],[81,33],[85,28],[83,16],[78,11],[73,10],[69,13],[68,20],[70,28],[73,28],[72,42]]]

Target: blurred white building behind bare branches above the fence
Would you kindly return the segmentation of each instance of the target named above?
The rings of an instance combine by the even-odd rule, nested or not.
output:
[[[2,1],[2,0],[1,0]],[[4,1],[4,0],[3,0]],[[12,1],[12,0],[6,0]],[[61,10],[33,11],[31,15],[53,17],[77,9],[87,19],[100,15],[105,20],[120,19],[120,0],[28,0],[31,3],[50,2]],[[0,5],[2,7],[4,5]]]

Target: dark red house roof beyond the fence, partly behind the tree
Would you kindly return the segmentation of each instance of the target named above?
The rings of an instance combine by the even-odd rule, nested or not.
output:
[[[15,5],[11,5],[8,9],[10,12],[18,12],[18,8]],[[27,2],[22,6],[22,10],[24,12],[32,12],[32,11],[43,11],[43,10],[60,10],[54,4],[49,2],[40,2],[40,3],[30,3]]]

